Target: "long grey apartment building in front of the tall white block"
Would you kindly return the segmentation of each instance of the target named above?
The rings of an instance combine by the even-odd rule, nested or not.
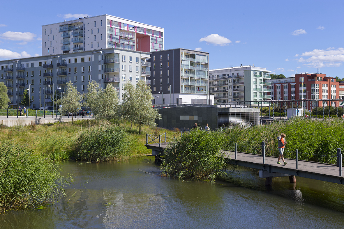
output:
[[[53,92],[63,92],[69,80],[81,93],[90,81],[100,88],[112,84],[122,99],[125,83],[150,84],[149,59],[150,53],[120,48],[12,59],[0,61],[0,81],[8,87],[10,107],[18,107],[29,87],[30,108],[52,106]]]

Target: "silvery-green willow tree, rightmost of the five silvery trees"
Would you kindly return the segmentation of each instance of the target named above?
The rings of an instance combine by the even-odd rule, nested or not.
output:
[[[135,98],[131,99],[135,103],[136,113],[133,122],[139,124],[141,132],[141,124],[148,126],[157,126],[155,119],[161,119],[158,109],[152,107],[152,92],[143,80],[136,84]]]

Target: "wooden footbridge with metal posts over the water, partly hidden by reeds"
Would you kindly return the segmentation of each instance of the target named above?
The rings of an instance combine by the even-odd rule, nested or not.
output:
[[[147,134],[147,149],[152,150],[155,159],[164,154],[169,142],[166,142],[166,133],[154,137]],[[297,153],[298,155],[298,153]],[[271,185],[272,177],[289,176],[291,183],[296,182],[295,176],[316,179],[319,181],[344,184],[342,176],[342,154],[337,152],[337,165],[319,162],[303,161],[297,159],[285,159],[286,165],[277,164],[278,157],[265,156],[264,144],[262,143],[262,154],[251,154],[235,151],[224,151],[225,158],[229,164],[259,169],[259,177],[266,178],[265,184]],[[283,162],[282,162],[283,164]]]

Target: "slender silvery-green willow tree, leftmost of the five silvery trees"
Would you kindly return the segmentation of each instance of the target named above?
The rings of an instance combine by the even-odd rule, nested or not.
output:
[[[62,97],[62,111],[75,111],[78,112],[81,108],[81,94],[76,90],[72,81],[67,82],[67,89],[65,95]],[[73,116],[72,116],[72,122]]]

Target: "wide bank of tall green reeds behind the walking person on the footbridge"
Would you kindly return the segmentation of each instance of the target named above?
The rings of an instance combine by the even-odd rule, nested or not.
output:
[[[318,161],[335,164],[337,148],[344,149],[344,120],[316,120],[292,118],[283,122],[272,122],[268,125],[251,128],[227,129],[227,146],[247,153],[261,153],[261,142],[265,142],[265,154],[278,156],[277,137],[286,134],[284,157],[295,158],[299,150],[300,160]],[[320,156],[324,155],[324,156]]]

